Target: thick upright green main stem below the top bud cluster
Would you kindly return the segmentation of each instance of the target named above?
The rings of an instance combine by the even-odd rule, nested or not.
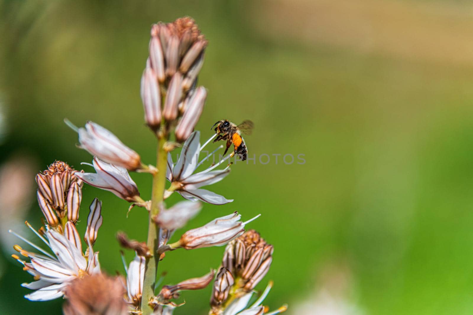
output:
[[[158,235],[159,228],[152,220],[152,217],[159,212],[159,204],[163,201],[163,194],[166,185],[166,168],[167,168],[167,153],[164,149],[167,137],[161,137],[158,141],[157,162],[156,167],[158,173],[153,175],[153,188],[151,196],[151,208],[149,209],[149,227],[148,227],[148,241],[147,246],[153,253],[153,257],[146,259],[145,278],[143,282],[143,295],[141,297],[141,311],[143,315],[152,314],[153,309],[148,306],[149,299],[154,296],[156,275],[158,273],[159,255],[158,250]]]

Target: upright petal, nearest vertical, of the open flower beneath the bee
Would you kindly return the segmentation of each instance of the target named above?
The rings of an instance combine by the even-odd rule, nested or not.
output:
[[[179,160],[173,169],[174,180],[180,181],[192,174],[194,171],[195,166],[197,166],[197,163],[199,162],[199,151],[201,147],[199,142],[200,137],[201,133],[199,131],[194,131],[184,142]]]

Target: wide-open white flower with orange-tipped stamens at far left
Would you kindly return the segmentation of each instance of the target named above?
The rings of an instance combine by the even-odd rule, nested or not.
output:
[[[88,248],[88,259],[82,254],[82,244],[76,227],[70,221],[64,226],[64,235],[50,229],[46,225],[45,237],[35,231],[31,225],[28,227],[53,251],[51,255],[34,243],[19,236],[15,232],[9,231],[29,245],[39,250],[42,254],[29,252],[15,245],[14,249],[21,255],[29,257],[28,263],[21,260],[17,255],[13,255],[25,270],[35,277],[31,283],[23,283],[22,286],[35,292],[26,294],[25,298],[32,301],[47,301],[59,298],[64,294],[65,288],[75,279],[83,278],[90,274],[100,274],[100,264],[98,253],[94,253],[92,247]]]

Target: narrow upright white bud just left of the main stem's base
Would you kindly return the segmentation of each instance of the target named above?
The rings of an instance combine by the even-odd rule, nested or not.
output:
[[[133,307],[140,307],[145,277],[146,258],[136,255],[126,269],[126,289],[128,303]]]

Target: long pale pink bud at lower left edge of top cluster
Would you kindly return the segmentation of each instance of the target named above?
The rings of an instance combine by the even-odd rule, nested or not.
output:
[[[161,124],[161,96],[158,79],[153,69],[147,67],[141,77],[141,100],[145,109],[146,124],[154,131]]]

